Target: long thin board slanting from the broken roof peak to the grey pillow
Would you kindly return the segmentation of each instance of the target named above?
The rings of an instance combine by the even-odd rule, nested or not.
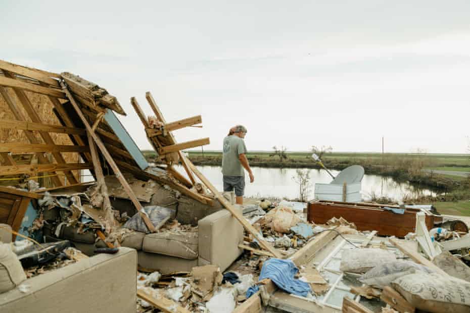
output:
[[[125,180],[125,178],[123,177],[121,171],[119,170],[118,166],[116,165],[116,163],[114,162],[114,159],[113,157],[111,156],[111,154],[109,154],[108,150],[106,149],[105,145],[103,144],[103,142],[101,141],[100,137],[98,137],[97,134],[95,134],[95,132],[93,132],[91,130],[91,126],[88,124],[88,121],[86,120],[85,116],[83,115],[83,113],[80,111],[80,108],[78,107],[78,104],[77,102],[75,101],[75,98],[73,97],[73,95],[71,94],[71,92],[67,89],[67,87],[65,86],[64,83],[62,83],[62,87],[64,88],[63,90],[65,91],[65,93],[67,94],[67,97],[69,98],[70,100],[70,103],[72,103],[72,106],[73,108],[75,109],[75,111],[77,112],[79,118],[82,120],[82,123],[83,125],[85,125],[85,128],[87,130],[88,133],[90,133],[91,135],[91,138],[93,139],[93,141],[95,141],[95,143],[97,144],[98,148],[100,148],[101,150],[101,153],[103,154],[105,160],[108,162],[109,166],[111,167],[111,169],[113,170],[114,174],[116,175],[116,178],[119,180],[119,182],[121,183],[122,187],[124,188],[124,190],[126,191],[127,195],[129,196],[130,200],[132,201],[132,203],[134,204],[136,210],[138,212],[140,212],[140,216],[142,217],[142,219],[144,220],[145,224],[147,225],[147,228],[149,229],[150,232],[155,232],[155,227],[154,225],[152,224],[152,222],[150,221],[149,217],[147,216],[147,214],[144,212],[143,208],[142,208],[142,205],[140,204],[140,202],[138,201],[137,197],[135,196],[134,192],[132,191],[132,189],[130,188],[129,184],[127,183],[127,181]]]

